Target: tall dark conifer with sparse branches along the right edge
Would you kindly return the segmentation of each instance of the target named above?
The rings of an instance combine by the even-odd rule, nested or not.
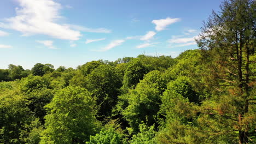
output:
[[[224,1],[197,39],[209,67],[206,84],[216,89],[212,105],[202,113],[228,122],[216,134],[237,131],[239,143],[255,135],[255,6],[253,0]]]

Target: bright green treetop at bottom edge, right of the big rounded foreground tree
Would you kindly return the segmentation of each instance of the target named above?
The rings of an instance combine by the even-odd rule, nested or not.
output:
[[[119,144],[121,143],[120,135],[113,129],[101,130],[99,134],[90,136],[90,141],[86,144]]]

